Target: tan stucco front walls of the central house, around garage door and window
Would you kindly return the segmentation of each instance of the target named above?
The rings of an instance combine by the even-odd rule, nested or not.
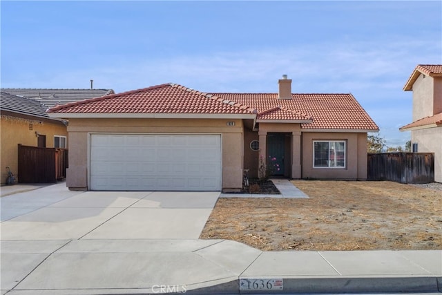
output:
[[[228,126],[227,122],[234,122]],[[66,184],[70,189],[86,190],[90,135],[96,133],[140,134],[220,134],[222,136],[222,191],[242,189],[242,170],[249,169],[251,178],[258,177],[260,155],[267,157],[267,135],[285,135],[284,176],[288,178],[318,178],[365,180],[367,178],[367,133],[302,132],[300,124],[260,123],[259,131],[244,126],[240,119],[75,119],[69,121],[69,168]],[[259,140],[259,151],[250,143]],[[345,140],[347,164],[344,169],[313,168],[314,140]]]

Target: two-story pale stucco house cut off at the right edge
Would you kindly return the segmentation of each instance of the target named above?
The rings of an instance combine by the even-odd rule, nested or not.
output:
[[[412,151],[434,153],[434,181],[442,182],[442,65],[418,65],[405,84],[413,91]]]

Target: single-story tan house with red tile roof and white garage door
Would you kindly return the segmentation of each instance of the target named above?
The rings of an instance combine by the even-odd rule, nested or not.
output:
[[[260,155],[287,178],[365,180],[378,131],[353,95],[291,94],[287,76],[278,93],[162,84],[48,114],[69,120],[66,184],[83,190],[240,191]]]

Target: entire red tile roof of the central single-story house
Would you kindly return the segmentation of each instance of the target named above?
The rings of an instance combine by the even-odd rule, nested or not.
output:
[[[300,122],[305,129],[378,130],[351,94],[201,93],[162,84],[51,108],[49,113],[248,114],[258,122]],[[57,116],[58,117],[58,116]]]

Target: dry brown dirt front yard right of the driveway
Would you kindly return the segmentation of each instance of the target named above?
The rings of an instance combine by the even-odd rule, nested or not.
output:
[[[396,182],[296,180],[304,198],[220,198],[202,239],[265,251],[442,249],[442,192]]]

